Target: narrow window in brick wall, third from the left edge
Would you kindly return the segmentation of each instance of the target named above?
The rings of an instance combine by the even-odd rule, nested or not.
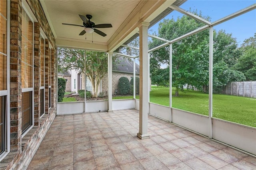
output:
[[[45,56],[44,56],[44,48],[45,41],[42,36],[40,36],[40,116],[44,114],[44,81],[45,81],[45,73],[44,73],[44,66],[45,66]]]

